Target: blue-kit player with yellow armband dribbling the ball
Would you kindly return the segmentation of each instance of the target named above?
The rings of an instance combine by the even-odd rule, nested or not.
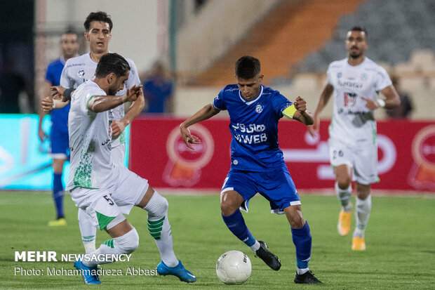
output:
[[[278,145],[278,121],[281,117],[305,125],[313,124],[313,117],[307,112],[304,99],[297,97],[291,103],[279,91],[261,84],[264,76],[257,58],[243,56],[237,60],[235,69],[237,84],[223,88],[213,103],[182,122],[182,138],[187,147],[194,150],[191,144],[199,144],[201,140],[193,136],[188,127],[213,117],[221,110],[228,111],[229,131],[232,133],[231,169],[220,192],[220,209],[225,224],[270,268],[279,270],[281,261],[267,250],[265,242],[253,237],[239,210],[248,211],[250,198],[259,192],[269,200],[272,212],[285,213],[290,223],[297,259],[295,283],[321,283],[308,268],[312,237]]]

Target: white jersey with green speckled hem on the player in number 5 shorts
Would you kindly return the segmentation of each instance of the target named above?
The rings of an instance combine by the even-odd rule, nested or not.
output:
[[[66,190],[75,187],[97,189],[113,183],[112,110],[95,113],[88,109],[96,95],[106,95],[98,84],[88,80],[72,94],[68,115],[69,150],[71,151],[69,179]]]

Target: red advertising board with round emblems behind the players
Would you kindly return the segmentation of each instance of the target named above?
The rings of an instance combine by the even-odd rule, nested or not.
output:
[[[183,119],[142,118],[131,124],[130,168],[156,188],[219,190],[229,170],[229,119],[189,127],[200,145],[189,150],[180,136]],[[279,145],[300,190],[333,188],[328,154],[329,121],[318,138],[297,121],[281,119]],[[378,171],[382,190],[435,191],[435,124],[424,121],[377,123]]]

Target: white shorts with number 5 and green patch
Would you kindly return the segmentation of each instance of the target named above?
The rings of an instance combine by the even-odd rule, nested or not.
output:
[[[128,214],[138,204],[148,189],[148,180],[140,178],[125,166],[114,165],[114,183],[105,188],[91,190],[76,187],[71,198],[77,207],[86,212],[95,228],[103,230],[119,214]]]

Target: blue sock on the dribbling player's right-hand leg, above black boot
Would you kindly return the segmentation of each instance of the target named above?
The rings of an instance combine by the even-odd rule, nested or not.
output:
[[[305,225],[300,229],[291,229],[293,244],[296,247],[297,268],[308,268],[308,261],[311,258],[311,242],[312,238],[309,233],[309,225]]]

